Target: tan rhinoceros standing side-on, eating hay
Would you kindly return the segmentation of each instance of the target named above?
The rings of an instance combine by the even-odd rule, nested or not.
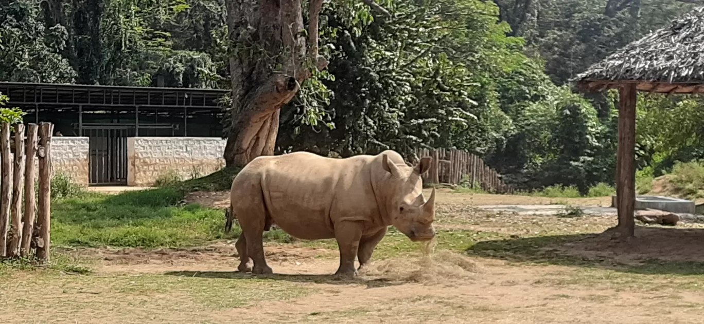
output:
[[[272,273],[262,235],[273,223],[299,239],[336,239],[335,275],[346,277],[368,264],[391,225],[412,241],[431,240],[435,189],[426,201],[421,179],[431,162],[432,157],[422,157],[408,167],[393,150],[344,159],[306,152],[256,157],[232,181],[226,213],[225,231],[234,217],[242,228],[235,243],[238,270]]]

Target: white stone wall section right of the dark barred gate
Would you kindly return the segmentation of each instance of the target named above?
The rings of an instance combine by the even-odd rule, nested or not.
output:
[[[217,137],[127,138],[127,185],[152,186],[165,176],[197,178],[225,167],[226,140]]]

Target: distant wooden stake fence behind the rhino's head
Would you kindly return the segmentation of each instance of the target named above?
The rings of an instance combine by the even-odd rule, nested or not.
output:
[[[484,160],[462,150],[420,149],[418,157],[429,156],[433,163],[423,176],[425,183],[459,185],[490,193],[513,193],[514,188],[501,181],[501,175],[484,164]]]

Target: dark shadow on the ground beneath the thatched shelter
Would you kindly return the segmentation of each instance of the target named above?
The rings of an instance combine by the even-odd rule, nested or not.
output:
[[[704,275],[704,228],[636,226],[636,239],[629,243],[613,240],[608,231],[486,240],[467,254],[628,273]]]

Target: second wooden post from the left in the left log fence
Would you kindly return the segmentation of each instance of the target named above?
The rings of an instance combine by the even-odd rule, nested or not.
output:
[[[25,125],[15,125],[15,163],[13,165],[13,188],[10,231],[8,233],[7,256],[20,255],[22,242],[22,194],[25,187]]]

